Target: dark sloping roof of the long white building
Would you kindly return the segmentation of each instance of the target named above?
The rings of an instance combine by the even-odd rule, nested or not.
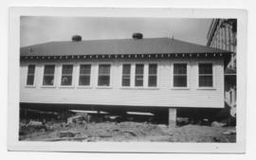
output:
[[[20,53],[21,56],[70,56],[230,52],[170,38],[148,38],[141,40],[119,39],[50,42],[21,47]]]

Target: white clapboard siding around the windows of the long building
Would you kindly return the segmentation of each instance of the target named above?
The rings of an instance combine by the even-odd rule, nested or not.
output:
[[[100,60],[99,60],[100,61]],[[189,65],[189,88],[174,89],[173,84],[173,62],[181,60],[157,60],[158,85],[156,88],[123,88],[121,87],[122,63],[129,60],[102,61],[111,63],[111,87],[99,88],[98,64],[99,61],[87,61],[92,64],[91,86],[88,88],[78,87],[79,64],[82,61],[72,61],[74,64],[72,87],[61,87],[62,63],[56,64],[55,87],[42,87],[44,65],[48,62],[21,62],[20,67],[20,101],[32,103],[76,103],[76,104],[104,104],[104,105],[133,105],[133,106],[161,106],[161,107],[224,107],[224,66],[222,59],[200,60],[188,59]],[[83,61],[85,62],[85,61]],[[132,61],[132,63],[148,61]],[[213,62],[214,88],[198,89],[198,62]],[[35,87],[27,87],[27,64],[36,64]],[[52,62],[50,62],[52,63]],[[68,62],[69,63],[69,62]],[[147,68],[147,66],[145,66]],[[145,77],[147,77],[147,72]],[[134,80],[134,76],[132,79]],[[146,82],[145,79],[144,82]],[[146,82],[147,83],[147,82]]]

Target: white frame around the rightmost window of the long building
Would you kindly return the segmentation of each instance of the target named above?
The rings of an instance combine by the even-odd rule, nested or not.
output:
[[[200,63],[211,63],[212,64],[212,86],[199,86],[199,64]],[[199,61],[196,63],[196,85],[197,90],[215,90],[216,84],[215,84],[215,62],[212,61]]]

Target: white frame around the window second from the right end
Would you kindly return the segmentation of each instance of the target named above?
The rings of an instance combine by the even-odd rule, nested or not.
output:
[[[187,86],[174,86],[174,64],[187,64]],[[191,89],[191,63],[188,61],[171,62],[171,89],[173,90],[189,90]]]

